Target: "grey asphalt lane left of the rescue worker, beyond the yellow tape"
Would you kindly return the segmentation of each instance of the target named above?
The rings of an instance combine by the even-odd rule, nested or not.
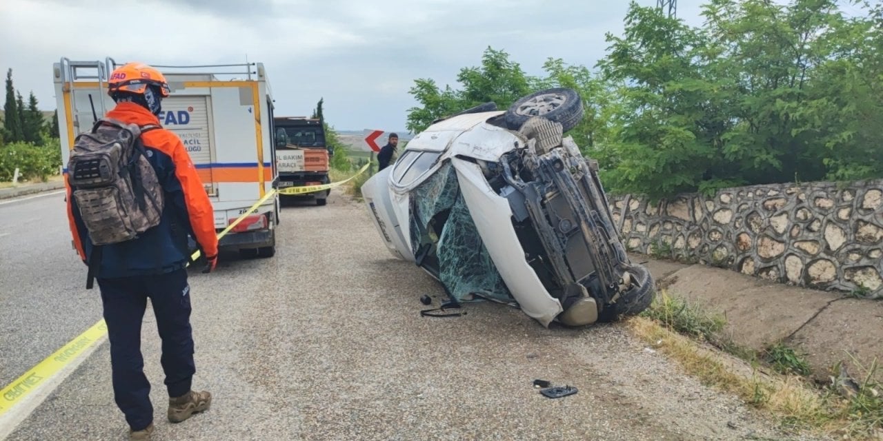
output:
[[[0,200],[0,385],[101,318],[71,245],[64,191]]]

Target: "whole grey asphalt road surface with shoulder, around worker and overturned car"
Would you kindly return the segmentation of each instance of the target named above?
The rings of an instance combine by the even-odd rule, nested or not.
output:
[[[100,318],[70,250],[59,197],[0,206],[4,382]],[[623,325],[543,328],[519,310],[467,305],[421,318],[442,289],[391,258],[363,206],[283,209],[275,258],[193,273],[197,377],[212,408],[165,420],[159,339],[142,336],[155,438],[808,439],[683,375]],[[549,400],[534,378],[579,392]],[[4,383],[5,384],[5,383]],[[105,342],[9,437],[125,439]]]

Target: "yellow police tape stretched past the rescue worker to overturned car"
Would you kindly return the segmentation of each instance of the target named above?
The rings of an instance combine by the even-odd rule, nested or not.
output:
[[[282,190],[272,190],[268,191],[263,198],[253,206],[251,206],[248,210],[245,211],[241,216],[238,217],[236,221],[230,224],[229,227],[224,228],[221,233],[218,234],[218,238],[220,239],[224,235],[230,232],[231,229],[236,227],[239,222],[243,221],[245,217],[247,217],[250,213],[252,213],[257,207],[266,202],[269,198],[272,198],[275,193],[292,195],[292,194],[305,194],[313,191],[324,191],[335,188],[343,183],[347,183],[351,181],[356,176],[365,173],[365,170],[368,166],[371,165],[370,162],[367,163],[362,168],[358,169],[358,172],[348,177],[343,181],[339,181],[336,183],[326,183],[322,185],[310,185],[306,187],[291,187]],[[192,258],[196,260],[196,258],[200,257],[200,251],[196,251],[193,253]],[[98,320],[98,323],[95,323],[86,330],[85,333],[79,334],[73,340],[69,341],[62,348],[58,349],[54,354],[49,355],[42,362],[34,366],[33,369],[26,371],[21,377],[16,378],[10,385],[7,385],[2,390],[0,390],[0,417],[2,417],[6,412],[11,410],[15,404],[21,400],[23,400],[28,394],[34,392],[34,390],[45,383],[50,377],[56,375],[59,370],[64,369],[68,363],[71,363],[75,360],[79,355],[83,354],[88,348],[94,346],[96,342],[101,340],[107,334],[107,325],[104,323],[104,319]]]

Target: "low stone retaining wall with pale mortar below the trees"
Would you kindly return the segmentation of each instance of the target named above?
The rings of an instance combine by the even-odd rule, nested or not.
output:
[[[883,179],[755,185],[659,204],[628,195],[609,202],[631,251],[883,298]]]

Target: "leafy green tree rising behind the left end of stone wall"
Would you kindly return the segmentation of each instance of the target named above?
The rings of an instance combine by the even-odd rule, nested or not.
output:
[[[731,124],[728,85],[714,75],[710,49],[697,29],[654,8],[632,3],[623,37],[608,34],[606,79],[620,84],[623,100],[613,116],[621,126],[604,146],[605,181],[617,191],[653,198],[691,191],[702,183],[741,183],[721,158]]]

